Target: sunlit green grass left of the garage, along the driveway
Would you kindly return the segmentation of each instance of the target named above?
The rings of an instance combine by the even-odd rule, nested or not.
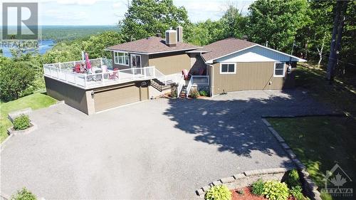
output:
[[[41,93],[28,95],[10,102],[0,102],[0,142],[4,141],[6,137],[8,137],[6,129],[12,126],[10,120],[7,119],[9,112],[25,109],[27,107],[31,107],[33,110],[36,110],[53,105],[55,102],[55,99]]]

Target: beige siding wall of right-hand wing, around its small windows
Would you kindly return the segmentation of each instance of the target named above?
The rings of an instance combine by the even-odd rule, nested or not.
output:
[[[273,69],[274,62],[236,63],[236,73],[220,74],[220,63],[214,63],[214,95],[223,90],[276,90],[294,85],[293,73],[273,77]]]

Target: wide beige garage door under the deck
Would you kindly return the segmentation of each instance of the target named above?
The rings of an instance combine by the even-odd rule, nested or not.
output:
[[[95,112],[140,101],[140,88],[136,85],[96,90],[94,94]]]

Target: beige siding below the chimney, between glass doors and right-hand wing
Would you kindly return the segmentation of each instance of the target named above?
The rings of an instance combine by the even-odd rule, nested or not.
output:
[[[183,69],[190,69],[190,57],[187,53],[161,53],[150,55],[149,65],[155,66],[164,74],[181,73]]]

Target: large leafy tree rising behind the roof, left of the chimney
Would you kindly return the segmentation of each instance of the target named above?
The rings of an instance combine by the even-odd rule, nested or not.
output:
[[[155,36],[179,25],[189,25],[187,10],[177,8],[172,0],[132,0],[125,19],[119,21],[126,41]]]

